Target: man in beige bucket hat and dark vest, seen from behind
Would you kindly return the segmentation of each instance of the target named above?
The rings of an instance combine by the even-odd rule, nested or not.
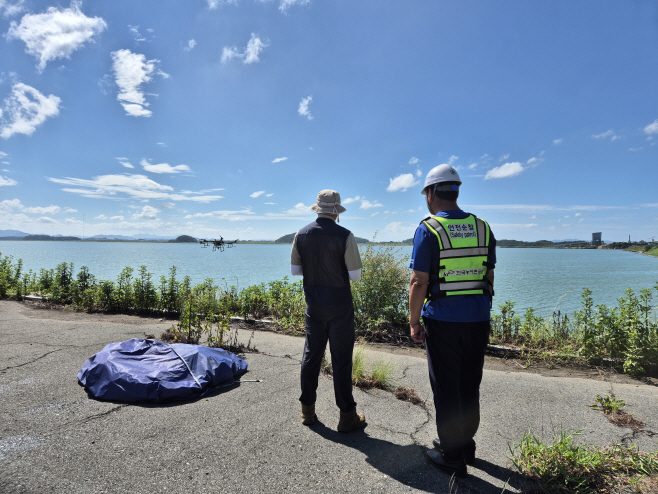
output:
[[[361,257],[354,235],[337,224],[338,215],[345,212],[338,192],[321,191],[311,209],[318,217],[297,232],[290,254],[290,271],[304,277],[306,297],[306,342],[299,398],[302,423],[312,425],[317,419],[318,378],[329,341],[334,393],[340,409],[338,431],[350,432],[366,425],[363,414],[356,413],[352,395],[354,308],[350,280],[361,277]]]

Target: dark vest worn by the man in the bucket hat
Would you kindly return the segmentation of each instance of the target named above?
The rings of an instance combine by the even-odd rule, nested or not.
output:
[[[319,217],[297,233],[297,251],[304,270],[309,305],[350,305],[352,290],[345,266],[350,231],[330,218]]]

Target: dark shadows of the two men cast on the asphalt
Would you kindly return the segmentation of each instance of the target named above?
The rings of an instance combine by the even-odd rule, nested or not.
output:
[[[337,444],[354,448],[366,456],[366,462],[388,475],[390,478],[414,489],[430,493],[463,493],[477,492],[482,494],[500,494],[502,488],[486,480],[469,475],[467,479],[453,479],[449,475],[437,470],[425,458],[427,448],[417,444],[401,446],[383,439],[376,439],[368,435],[367,427],[349,434],[329,429],[322,422],[317,421],[309,429],[319,436]],[[358,470],[354,465],[354,470]],[[488,475],[508,485],[518,485],[518,475],[507,469],[477,459],[471,473],[481,470]],[[514,484],[513,484],[514,483]],[[372,487],[372,486],[371,486]]]

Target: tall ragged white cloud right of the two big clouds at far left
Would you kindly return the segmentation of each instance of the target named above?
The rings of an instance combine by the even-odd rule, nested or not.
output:
[[[153,73],[159,62],[159,60],[147,61],[144,55],[132,53],[130,50],[112,52],[112,70],[116,85],[120,89],[117,100],[128,115],[151,116],[152,112],[146,109],[149,104],[146,102],[141,85],[153,79]],[[165,78],[169,77],[162,71],[157,73]]]

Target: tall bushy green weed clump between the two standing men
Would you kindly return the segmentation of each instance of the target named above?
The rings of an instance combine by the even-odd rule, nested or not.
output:
[[[361,278],[352,283],[354,319],[360,336],[379,336],[409,320],[409,256],[395,247],[368,245]]]

